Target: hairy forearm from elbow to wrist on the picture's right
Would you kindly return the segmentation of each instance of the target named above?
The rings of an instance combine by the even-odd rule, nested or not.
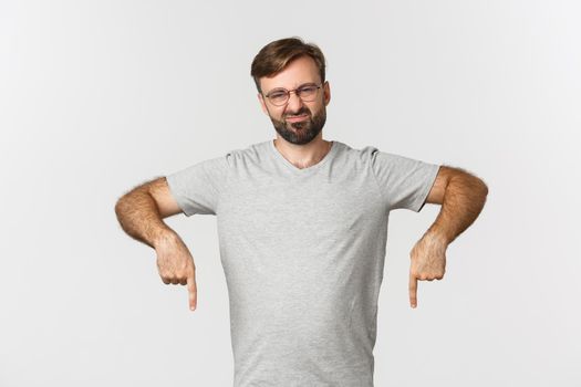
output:
[[[487,195],[488,187],[479,178],[469,174],[452,177],[439,213],[426,233],[452,243],[478,218]]]

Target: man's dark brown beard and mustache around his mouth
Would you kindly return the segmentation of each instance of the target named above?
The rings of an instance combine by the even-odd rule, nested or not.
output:
[[[307,114],[309,118],[298,123],[288,123],[284,119],[287,117],[300,116],[304,114]],[[323,129],[324,123],[326,121],[326,109],[325,106],[323,106],[321,113],[313,116],[311,111],[307,106],[303,106],[295,113],[284,114],[281,121],[272,117],[270,117],[270,121],[272,122],[272,125],[274,125],[277,133],[287,142],[297,145],[304,145],[309,144]]]

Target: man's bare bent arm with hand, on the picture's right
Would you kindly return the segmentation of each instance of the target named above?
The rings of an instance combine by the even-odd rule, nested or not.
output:
[[[417,305],[417,280],[444,278],[446,249],[478,217],[486,202],[486,184],[460,168],[442,166],[426,198],[442,205],[434,223],[411,252],[409,303]]]

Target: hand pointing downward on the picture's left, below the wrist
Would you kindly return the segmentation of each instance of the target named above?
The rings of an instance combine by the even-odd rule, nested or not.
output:
[[[157,269],[166,285],[187,285],[189,293],[189,308],[196,310],[196,265],[188,248],[176,233],[167,233],[155,243],[157,253]]]

